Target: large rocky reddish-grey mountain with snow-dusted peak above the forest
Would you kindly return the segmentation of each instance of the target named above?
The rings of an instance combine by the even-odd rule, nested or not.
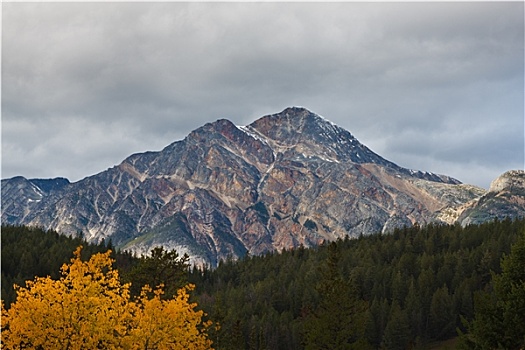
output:
[[[458,208],[486,195],[448,176],[402,168],[293,107],[247,126],[208,123],[75,183],[2,180],[2,222],[82,232],[137,253],[162,245],[215,266],[228,256],[454,215],[468,221],[471,214]]]

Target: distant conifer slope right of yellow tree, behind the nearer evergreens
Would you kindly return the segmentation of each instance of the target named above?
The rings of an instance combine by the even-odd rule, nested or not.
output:
[[[355,328],[344,332],[343,348],[425,348],[465,331],[461,319],[474,317],[474,295],[490,289],[524,227],[524,220],[496,220],[398,229],[223,261],[215,270],[194,270],[190,280],[199,305],[221,323],[219,348],[315,348],[309,333],[337,327]],[[338,271],[327,273],[334,252]],[[351,295],[328,295],[323,286],[334,281],[327,278],[341,278],[334,285]],[[343,325],[318,322],[328,319],[327,301],[352,316],[331,318]]]

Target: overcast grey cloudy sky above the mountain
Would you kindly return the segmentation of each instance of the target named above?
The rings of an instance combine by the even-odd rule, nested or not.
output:
[[[2,178],[77,181],[304,106],[390,161],[524,167],[524,3],[3,3]]]

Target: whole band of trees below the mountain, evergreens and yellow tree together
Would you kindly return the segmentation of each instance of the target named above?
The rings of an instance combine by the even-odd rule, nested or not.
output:
[[[2,347],[418,349],[458,334],[464,349],[525,346],[524,220],[405,228],[213,270],[112,248],[2,227]]]

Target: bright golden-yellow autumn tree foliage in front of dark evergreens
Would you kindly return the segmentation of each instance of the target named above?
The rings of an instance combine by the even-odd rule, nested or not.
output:
[[[189,303],[189,285],[173,299],[152,298],[145,286],[131,300],[130,284],[121,284],[110,252],[80,259],[81,247],[62,277],[37,277],[15,286],[16,302],[2,304],[3,349],[211,349],[209,323]]]

